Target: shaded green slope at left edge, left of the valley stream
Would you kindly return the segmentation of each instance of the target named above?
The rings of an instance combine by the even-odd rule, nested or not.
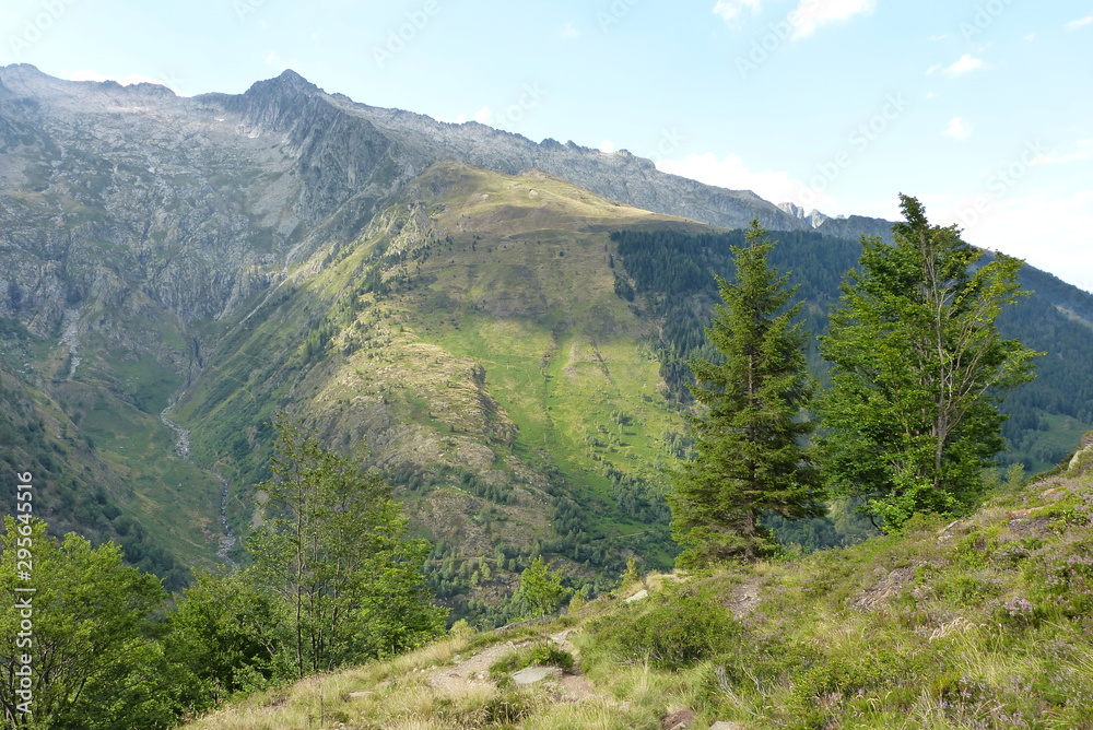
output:
[[[32,473],[34,514],[55,534],[74,531],[95,543],[114,540],[131,563],[158,574],[171,588],[185,579],[187,566],[211,565],[211,551],[191,542],[176,523],[179,513],[192,508],[200,516],[205,506],[189,505],[163,487],[177,484],[179,494],[188,493],[181,485],[193,484],[197,470],[179,470],[188,466],[180,460],[161,460],[148,419],[129,407],[132,415],[120,420],[127,409],[108,389],[60,376],[49,381],[49,395],[28,385],[16,367],[31,369],[32,362],[47,367],[50,349],[12,320],[0,320],[0,330],[5,355],[0,358],[0,458],[9,474]],[[56,356],[67,372],[67,358]],[[5,511],[15,514],[14,491],[5,495]]]

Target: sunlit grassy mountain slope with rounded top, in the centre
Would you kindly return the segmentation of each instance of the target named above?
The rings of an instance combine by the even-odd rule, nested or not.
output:
[[[682,420],[649,322],[616,294],[609,238],[646,226],[698,228],[539,173],[437,165],[354,240],[210,322],[213,352],[172,417],[242,487],[240,531],[274,410],[364,443],[437,543],[436,585],[458,608],[496,603],[538,552],[589,590],[635,552],[666,567]]]

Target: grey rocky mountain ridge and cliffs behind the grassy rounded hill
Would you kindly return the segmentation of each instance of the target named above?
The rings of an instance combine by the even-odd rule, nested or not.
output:
[[[356,104],[292,71],[238,96],[180,98],[11,66],[0,70],[0,316],[44,334],[81,303],[117,311],[140,293],[161,318],[223,317],[319,243],[351,238],[445,158],[506,174],[538,168],[720,226],[759,217],[772,229],[851,237],[888,226],[804,220],[627,152]],[[96,326],[80,321],[81,331]]]

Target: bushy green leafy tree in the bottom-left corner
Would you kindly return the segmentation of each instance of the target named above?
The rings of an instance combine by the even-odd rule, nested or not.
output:
[[[153,614],[166,598],[160,579],[126,566],[110,542],[93,548],[72,532],[58,541],[37,519],[4,517],[3,528],[0,727],[174,727],[180,678],[156,640]],[[19,577],[20,561],[33,566],[28,579]],[[24,656],[28,662],[16,661]],[[30,700],[19,694],[24,679]]]

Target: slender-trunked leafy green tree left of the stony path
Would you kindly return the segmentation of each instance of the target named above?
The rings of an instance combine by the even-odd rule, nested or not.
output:
[[[275,420],[274,478],[259,485],[261,526],[247,542],[248,577],[275,596],[299,676],[398,654],[444,629],[430,602],[425,540],[379,476],[333,451],[286,416]]]

